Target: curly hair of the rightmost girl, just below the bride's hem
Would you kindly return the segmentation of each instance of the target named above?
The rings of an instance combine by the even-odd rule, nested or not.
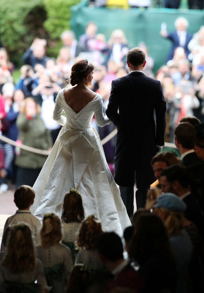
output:
[[[77,245],[87,250],[93,250],[95,249],[96,237],[101,233],[103,233],[103,230],[100,221],[94,215],[90,215],[80,227]]]

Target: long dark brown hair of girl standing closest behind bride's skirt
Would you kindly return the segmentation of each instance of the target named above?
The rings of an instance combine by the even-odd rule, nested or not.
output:
[[[65,223],[81,223],[85,219],[82,197],[73,188],[70,189],[70,192],[65,193],[61,219]]]

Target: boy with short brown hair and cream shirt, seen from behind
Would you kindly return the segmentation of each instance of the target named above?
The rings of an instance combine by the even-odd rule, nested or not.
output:
[[[30,207],[33,204],[35,198],[35,192],[32,187],[28,185],[22,185],[14,192],[14,202],[18,210],[16,214],[9,217],[4,225],[4,232],[8,225],[16,224],[17,222],[26,222],[30,225],[32,236],[35,244],[39,244],[40,240],[40,220],[31,214]],[[4,235],[3,232],[3,235]],[[5,249],[4,244],[1,243],[1,251]]]

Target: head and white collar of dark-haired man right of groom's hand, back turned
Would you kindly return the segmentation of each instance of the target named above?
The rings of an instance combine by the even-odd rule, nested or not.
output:
[[[180,151],[180,161],[183,166],[188,167],[203,162],[194,151],[196,130],[193,125],[187,122],[179,123],[174,130],[174,136],[174,143]]]

